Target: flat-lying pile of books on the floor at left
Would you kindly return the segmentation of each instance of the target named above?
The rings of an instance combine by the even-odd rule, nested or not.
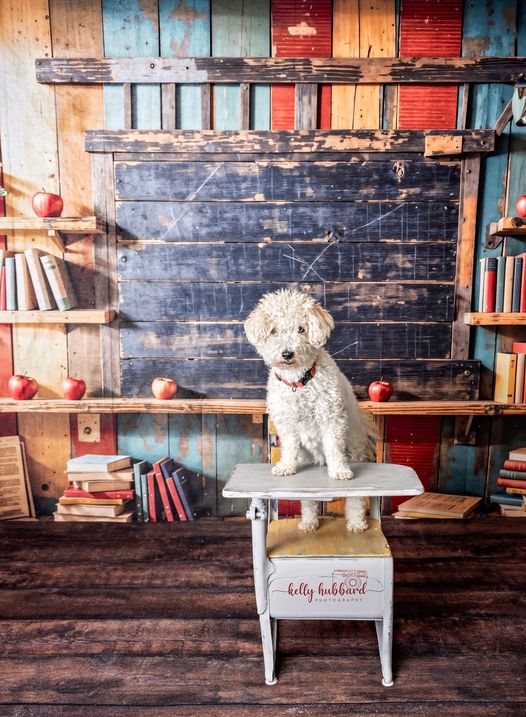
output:
[[[68,461],[68,487],[59,498],[56,521],[129,523],[135,513],[130,456],[87,454]]]

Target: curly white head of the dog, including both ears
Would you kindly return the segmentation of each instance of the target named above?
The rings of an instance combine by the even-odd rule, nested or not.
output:
[[[245,321],[245,333],[267,366],[312,366],[334,328],[332,316],[301,291],[265,294]]]

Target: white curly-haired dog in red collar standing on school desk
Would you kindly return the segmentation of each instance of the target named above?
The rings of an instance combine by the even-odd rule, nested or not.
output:
[[[280,438],[274,475],[292,475],[304,462],[327,465],[331,478],[350,480],[352,462],[375,460],[374,426],[361,415],[351,384],[323,348],[332,316],[301,291],[265,294],[245,321],[245,332],[269,367],[267,410]],[[346,527],[367,528],[363,498],[347,498]],[[318,503],[302,501],[299,527],[318,528]]]

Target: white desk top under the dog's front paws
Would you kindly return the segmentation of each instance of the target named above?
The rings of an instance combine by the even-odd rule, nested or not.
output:
[[[293,476],[273,476],[269,463],[239,463],[225,487],[225,498],[331,500],[364,495],[419,495],[424,487],[408,466],[353,463],[354,479],[329,478],[325,466],[307,466]]]

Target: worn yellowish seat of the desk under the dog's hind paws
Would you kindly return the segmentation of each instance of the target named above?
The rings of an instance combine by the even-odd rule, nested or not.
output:
[[[296,518],[271,521],[267,533],[269,559],[391,556],[378,520],[368,518],[369,527],[363,533],[350,533],[345,518],[320,518],[320,527],[314,533],[299,530],[298,523]]]

